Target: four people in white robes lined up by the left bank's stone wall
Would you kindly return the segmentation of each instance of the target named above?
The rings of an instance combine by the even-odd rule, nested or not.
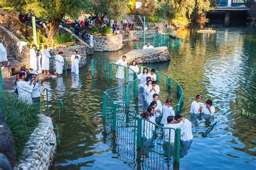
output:
[[[50,55],[51,48],[48,48],[47,45],[44,45],[44,49],[36,49],[36,45],[33,44],[30,49],[30,69],[36,71],[37,73],[42,73],[44,70],[44,74],[50,74]],[[55,56],[55,68],[56,74],[60,75],[63,73],[64,66],[64,53],[62,51],[58,52]],[[41,62],[42,60],[42,62]],[[79,73],[79,62],[81,60],[81,56],[77,51],[74,51],[73,55],[71,55],[71,73],[78,74]]]

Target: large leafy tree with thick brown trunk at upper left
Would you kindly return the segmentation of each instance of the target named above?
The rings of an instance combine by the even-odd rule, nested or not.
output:
[[[77,17],[86,2],[83,0],[5,0],[5,4],[18,11],[33,13],[38,18],[48,20],[50,30],[46,41],[53,46],[61,20],[65,16]]]

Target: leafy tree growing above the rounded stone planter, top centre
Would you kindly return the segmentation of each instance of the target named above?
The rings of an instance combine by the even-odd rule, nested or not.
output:
[[[127,14],[128,0],[89,0],[85,12],[96,18],[95,24],[100,27],[105,17],[121,19]]]

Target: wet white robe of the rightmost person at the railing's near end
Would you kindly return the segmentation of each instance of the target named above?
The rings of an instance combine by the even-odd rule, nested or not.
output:
[[[184,120],[184,125],[183,122],[181,121],[180,123],[180,129],[181,129],[181,133],[180,133],[180,139],[183,141],[188,141],[188,140],[192,140],[193,139],[193,134],[192,134],[192,124],[190,121],[188,121],[188,119]]]

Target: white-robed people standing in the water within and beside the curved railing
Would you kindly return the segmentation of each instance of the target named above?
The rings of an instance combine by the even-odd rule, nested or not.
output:
[[[126,56],[116,62],[117,65],[117,79],[124,79],[124,68],[127,67]],[[174,143],[175,133],[173,129],[180,128],[180,139],[182,142],[191,144],[193,139],[192,123],[181,115],[176,115],[172,108],[172,98],[166,98],[164,104],[159,100],[160,87],[157,84],[156,70],[144,67],[143,73],[139,73],[139,67],[136,61],[132,61],[129,71],[129,80],[133,80],[133,72],[138,75],[140,80],[140,88],[143,90],[144,102],[147,104],[147,109],[140,116],[143,117],[142,137],[143,140],[152,140],[156,133],[156,124],[163,126],[163,139],[165,142]],[[130,76],[132,76],[130,78]],[[204,113],[207,115],[214,115],[215,108],[210,99],[206,100],[205,104],[201,103],[201,96],[197,95],[191,104],[191,114]],[[162,117],[160,119],[160,117]],[[173,128],[171,132],[170,129]]]

